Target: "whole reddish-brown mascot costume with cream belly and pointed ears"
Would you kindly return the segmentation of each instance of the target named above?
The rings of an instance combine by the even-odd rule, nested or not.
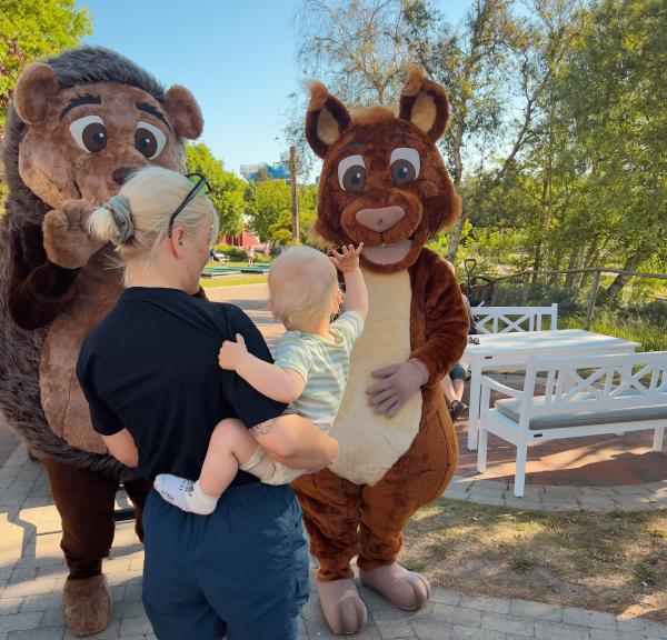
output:
[[[458,457],[439,380],[464,351],[468,314],[451,267],[424,247],[460,213],[435,146],[447,119],[445,90],[414,66],[398,117],[385,107],[350,114],[323,84],[310,87],[306,137],[323,159],[316,231],[365,243],[370,301],[331,433],[340,457],[293,482],[335,633],[366,623],[354,556],[362,583],[396,607],[418,609],[430,591],[396,558],[406,522],[442,493]]]

